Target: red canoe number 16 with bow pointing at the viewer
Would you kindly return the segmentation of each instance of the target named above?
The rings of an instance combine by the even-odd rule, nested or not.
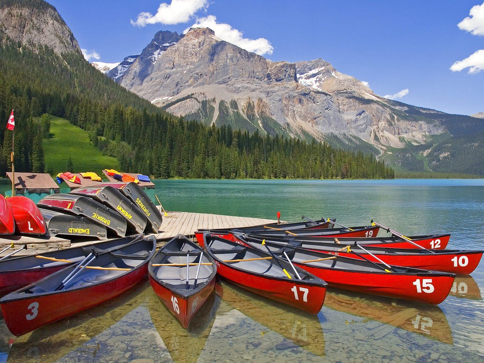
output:
[[[156,295],[187,328],[212,293],[217,268],[199,246],[185,236],[177,236],[151,258],[148,272]]]

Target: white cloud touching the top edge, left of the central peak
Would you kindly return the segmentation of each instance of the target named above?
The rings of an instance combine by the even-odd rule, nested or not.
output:
[[[132,25],[144,27],[146,24],[173,25],[186,23],[200,9],[208,7],[208,0],[171,0],[168,5],[163,2],[158,7],[155,15],[143,12],[138,14],[136,21],[131,20]]]

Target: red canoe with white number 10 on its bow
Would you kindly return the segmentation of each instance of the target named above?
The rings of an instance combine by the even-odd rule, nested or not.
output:
[[[249,242],[250,245],[260,246],[263,238],[256,236],[247,236],[240,233],[234,233],[234,237],[240,242],[243,239]],[[484,251],[464,251],[464,250],[436,250],[428,251],[420,248],[384,248],[373,247],[370,245],[362,246],[366,251],[363,251],[358,246],[348,241],[348,244],[337,244],[333,242],[305,242],[294,241],[288,239],[271,238],[271,242],[277,242],[284,245],[297,246],[307,250],[325,252],[335,256],[344,256],[357,259],[367,258],[373,262],[379,262],[378,258],[389,265],[413,267],[423,270],[434,270],[441,272],[450,272],[461,275],[467,275],[473,272],[481,258]],[[359,244],[359,243],[358,243]],[[348,248],[350,247],[350,252]],[[355,254],[354,252],[357,252]],[[372,256],[373,255],[373,256]],[[378,257],[378,258],[377,258]]]

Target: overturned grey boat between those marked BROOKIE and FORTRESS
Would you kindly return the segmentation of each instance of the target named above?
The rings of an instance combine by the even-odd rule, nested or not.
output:
[[[89,185],[71,190],[69,194],[90,197],[95,201],[115,210],[121,214],[128,224],[128,228],[136,233],[142,233],[146,228],[145,213],[141,211],[128,197],[118,189],[109,185]]]

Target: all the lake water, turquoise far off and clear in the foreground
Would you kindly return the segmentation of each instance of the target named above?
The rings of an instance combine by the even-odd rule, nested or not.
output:
[[[484,247],[483,180],[156,181],[166,210],[300,220],[337,217],[408,234],[450,232]],[[8,362],[483,362],[484,264],[439,306],[330,289],[317,316],[220,282],[183,330],[144,283],[111,302],[13,338]],[[136,361],[135,361],[136,362]]]

